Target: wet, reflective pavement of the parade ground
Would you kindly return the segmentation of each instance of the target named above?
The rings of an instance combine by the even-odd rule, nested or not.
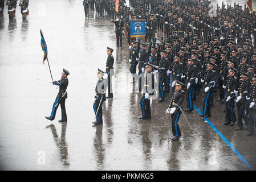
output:
[[[233,1],[229,1],[232,2]],[[243,5],[243,3],[241,3]],[[221,2],[219,3],[219,6]],[[216,101],[205,122],[195,110],[179,125],[172,142],[169,100],[152,101],[152,119],[140,121],[141,95],[131,93],[128,45],[116,49],[113,23],[90,11],[82,1],[30,1],[30,15],[19,8],[9,21],[0,16],[0,165],[4,170],[250,170],[256,169],[256,135],[223,126],[224,105]],[[54,80],[62,69],[71,75],[66,100],[67,123],[44,116],[58,89],[47,63],[42,65],[42,29]],[[161,35],[157,35],[160,39]],[[115,49],[115,94],[103,105],[103,126],[92,126],[97,68],[104,70],[106,48]],[[128,83],[128,84],[127,84]],[[166,94],[168,98],[168,94]],[[201,110],[201,96],[194,103]],[[185,106],[185,102],[184,102]]]

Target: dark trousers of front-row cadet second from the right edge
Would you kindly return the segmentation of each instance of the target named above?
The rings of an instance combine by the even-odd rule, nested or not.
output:
[[[237,126],[243,128],[243,120],[245,120],[245,125],[249,123],[246,112],[247,100],[246,98],[241,98],[239,102],[237,102]]]

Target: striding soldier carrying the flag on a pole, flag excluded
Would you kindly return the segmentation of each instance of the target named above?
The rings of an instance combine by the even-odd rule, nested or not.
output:
[[[67,113],[66,113],[66,107],[65,107],[65,100],[67,98],[67,86],[68,86],[68,78],[67,76],[70,75],[70,73],[63,68],[62,72],[62,78],[58,81],[53,81],[52,85],[58,85],[59,86],[59,93],[57,94],[56,100],[54,102],[54,105],[52,106],[52,111],[50,117],[45,117],[49,120],[54,120],[56,111],[59,107],[62,109],[62,119],[59,120],[59,122],[67,122]]]

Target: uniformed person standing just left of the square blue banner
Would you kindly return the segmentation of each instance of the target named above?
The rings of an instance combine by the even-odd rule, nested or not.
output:
[[[124,22],[123,19],[121,19],[121,16],[119,14],[116,14],[116,19],[111,19],[112,23],[115,23],[115,33],[116,33],[116,47],[122,48],[122,36],[123,36],[123,30],[124,30]]]

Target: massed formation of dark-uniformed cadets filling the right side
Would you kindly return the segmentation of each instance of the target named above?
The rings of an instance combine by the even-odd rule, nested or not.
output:
[[[158,101],[164,101],[168,92],[171,100],[166,113],[171,113],[173,140],[181,135],[177,122],[184,98],[184,111],[190,113],[194,110],[193,101],[202,94],[200,116],[206,118],[211,115],[213,93],[216,92],[217,101],[225,104],[224,125],[233,126],[237,121],[235,130],[249,127],[248,135],[254,134],[255,12],[249,13],[246,6],[242,9],[235,4],[226,7],[224,3],[213,10],[210,1],[145,0],[129,3],[130,7],[121,3],[116,19],[111,21],[119,23],[116,25],[122,30],[119,34],[125,36],[123,40],[128,40],[130,72],[133,75],[139,73],[139,90],[143,94],[139,118],[151,118],[151,96],[142,88],[148,89],[147,75],[157,75]],[[143,43],[129,37],[131,19],[145,19]],[[157,32],[163,35],[161,40],[156,39]],[[122,35],[117,36],[117,48],[121,48]],[[153,88],[150,89],[151,94],[154,93]]]

